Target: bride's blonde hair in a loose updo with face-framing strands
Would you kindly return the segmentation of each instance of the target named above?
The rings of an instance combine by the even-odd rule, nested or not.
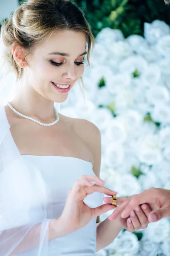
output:
[[[87,61],[90,65],[89,58],[94,47],[94,36],[82,9],[71,0],[28,0],[22,3],[1,27],[4,64],[10,67],[7,73],[14,72],[17,81],[23,75],[23,69],[17,65],[13,57],[12,47],[15,44],[23,47],[27,53],[26,57],[32,55],[36,47],[45,43],[54,32],[63,29],[85,33],[86,47],[88,46]],[[20,55],[17,56],[19,57]],[[80,80],[82,81],[82,77]]]

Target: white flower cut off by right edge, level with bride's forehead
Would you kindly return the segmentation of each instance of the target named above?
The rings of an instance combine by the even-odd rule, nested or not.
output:
[[[170,35],[160,38],[156,50],[164,57],[170,57]]]

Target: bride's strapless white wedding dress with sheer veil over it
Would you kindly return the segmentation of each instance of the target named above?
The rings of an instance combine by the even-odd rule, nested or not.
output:
[[[1,105],[0,256],[94,256],[96,218],[68,236],[48,241],[49,222],[62,214],[75,180],[95,175],[92,163],[74,157],[20,155],[9,128]],[[98,207],[103,197],[94,192],[84,202]]]

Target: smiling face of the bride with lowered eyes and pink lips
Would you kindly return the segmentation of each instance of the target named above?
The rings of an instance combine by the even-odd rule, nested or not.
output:
[[[45,44],[36,48],[32,56],[26,58],[29,64],[29,67],[25,64],[23,73],[26,86],[31,86],[45,99],[64,102],[69,90],[84,72],[85,47],[86,37],[83,32],[55,32]],[[53,83],[58,87],[69,87],[58,88]]]

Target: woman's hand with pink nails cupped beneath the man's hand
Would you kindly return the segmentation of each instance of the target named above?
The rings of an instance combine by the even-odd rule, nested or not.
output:
[[[126,198],[117,198],[118,204],[121,204],[123,200],[126,201]],[[111,204],[112,198],[105,197],[103,198],[103,201],[107,204]],[[121,216],[119,216],[117,219],[125,229],[129,232],[134,232],[147,227],[149,224],[148,216],[151,211],[152,210],[147,204],[142,204],[131,211],[127,218],[121,218]]]

